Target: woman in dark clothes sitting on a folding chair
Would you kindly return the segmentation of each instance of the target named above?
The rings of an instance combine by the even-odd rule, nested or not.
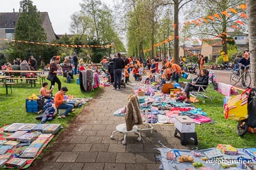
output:
[[[209,82],[209,71],[207,69],[202,69],[200,75],[196,77],[191,83],[187,83],[184,89],[186,93],[186,99],[184,100],[186,103],[191,103],[189,92],[193,90],[198,90],[199,87],[195,85],[208,85]]]

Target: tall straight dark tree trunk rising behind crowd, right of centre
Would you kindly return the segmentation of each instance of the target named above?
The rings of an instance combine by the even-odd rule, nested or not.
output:
[[[173,0],[174,2],[174,45],[173,45],[173,57],[174,63],[179,64],[179,0]]]

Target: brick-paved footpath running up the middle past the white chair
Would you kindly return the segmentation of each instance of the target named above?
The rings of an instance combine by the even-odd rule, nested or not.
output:
[[[127,104],[134,87],[127,85],[122,91],[104,87],[102,92],[83,108],[76,120],[63,132],[56,143],[30,169],[159,169],[155,159],[161,141],[169,148],[187,149],[173,137],[173,125],[154,125],[154,131],[141,132],[141,141],[133,133],[127,135],[127,145],[122,145],[123,134],[111,132],[116,125],[125,123],[124,117],[113,112]]]

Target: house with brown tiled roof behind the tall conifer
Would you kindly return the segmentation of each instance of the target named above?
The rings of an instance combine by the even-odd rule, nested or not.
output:
[[[15,39],[14,30],[15,25],[19,19],[20,13],[0,13],[0,38],[1,39]],[[52,41],[58,39],[56,34],[52,29],[52,24],[47,12],[41,12],[42,18],[42,27],[44,28],[45,34],[47,36],[47,41],[51,43]],[[17,39],[19,40],[19,39]],[[0,43],[4,43],[6,41],[0,40]]]

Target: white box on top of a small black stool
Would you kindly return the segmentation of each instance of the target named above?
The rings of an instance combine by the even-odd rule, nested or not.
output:
[[[195,132],[195,122],[188,116],[175,116],[174,126],[182,133]]]

